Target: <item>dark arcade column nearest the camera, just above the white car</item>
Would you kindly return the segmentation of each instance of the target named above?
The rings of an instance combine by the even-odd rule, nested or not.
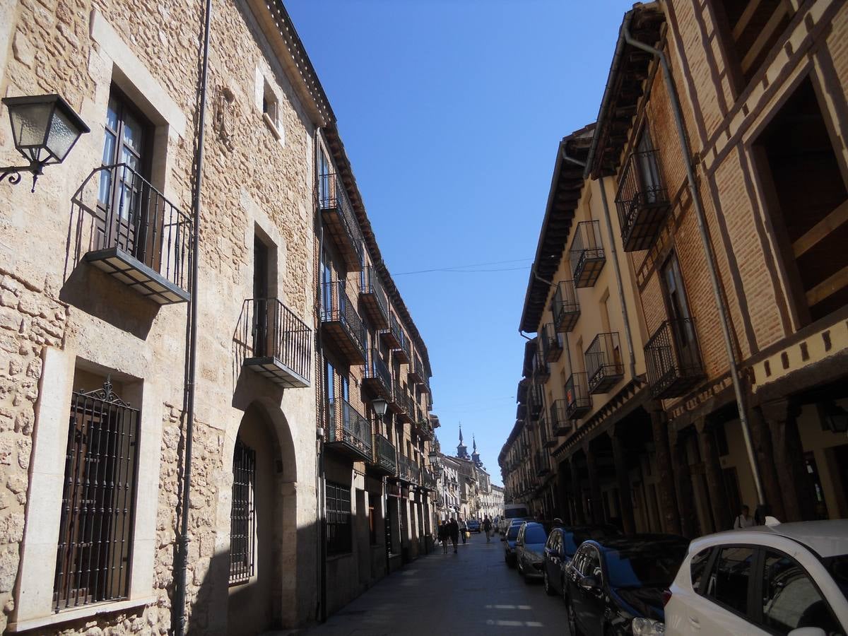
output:
[[[762,415],[772,432],[774,467],[783,491],[785,519],[797,522],[816,518],[816,499],[804,466],[804,448],[795,420],[801,407],[789,399],[773,400],[760,405]]]

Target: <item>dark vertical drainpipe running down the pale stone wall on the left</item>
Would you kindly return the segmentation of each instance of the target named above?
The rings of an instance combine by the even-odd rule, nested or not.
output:
[[[194,393],[195,372],[198,352],[198,256],[200,252],[200,193],[204,183],[204,127],[206,122],[206,92],[209,84],[209,31],[212,21],[212,0],[206,0],[204,22],[204,58],[200,71],[200,108],[198,111],[198,147],[195,151],[195,179],[192,196],[192,298],[188,327],[188,362],[186,373],[186,449],[182,471],[182,493],[179,502],[181,510],[180,543],[177,546],[176,572],[174,575],[174,596],[172,611],[176,610],[177,620],[174,628],[176,636],[186,633],[186,587],[188,570],[188,515],[191,511],[192,495],[192,436],[194,433]]]

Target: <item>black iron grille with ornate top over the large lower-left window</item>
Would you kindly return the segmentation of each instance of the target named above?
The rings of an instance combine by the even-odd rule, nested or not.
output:
[[[138,410],[103,388],[75,392],[64,463],[55,611],[127,598]]]

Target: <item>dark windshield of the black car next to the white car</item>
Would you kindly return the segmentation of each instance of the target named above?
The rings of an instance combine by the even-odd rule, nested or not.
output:
[[[613,588],[666,588],[686,556],[685,545],[661,550],[608,550],[606,570]]]

